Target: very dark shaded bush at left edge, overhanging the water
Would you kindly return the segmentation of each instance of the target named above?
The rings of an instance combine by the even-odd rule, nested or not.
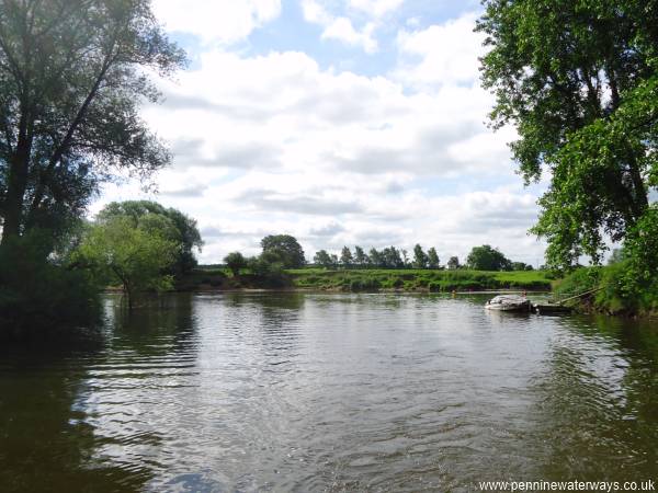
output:
[[[48,259],[49,237],[34,229],[0,249],[0,340],[41,337],[47,329],[88,325],[99,314],[92,276]]]

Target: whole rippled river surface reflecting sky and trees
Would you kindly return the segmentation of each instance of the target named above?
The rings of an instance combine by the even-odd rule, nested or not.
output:
[[[658,479],[658,325],[481,296],[174,295],[0,352],[0,490]]]

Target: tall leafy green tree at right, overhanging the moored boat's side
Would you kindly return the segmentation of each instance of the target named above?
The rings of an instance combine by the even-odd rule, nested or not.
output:
[[[486,0],[478,30],[490,48],[483,82],[496,94],[495,127],[526,183],[547,169],[533,232],[551,266],[582,254],[594,263],[605,237],[622,241],[658,184],[658,5],[636,0]]]

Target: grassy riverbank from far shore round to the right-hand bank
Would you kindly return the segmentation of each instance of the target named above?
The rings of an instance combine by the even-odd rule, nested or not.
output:
[[[279,276],[200,267],[177,282],[178,291],[476,293],[554,291],[558,298],[598,289],[570,303],[576,311],[658,318],[658,289],[631,296],[620,280],[621,266],[582,267],[564,278],[547,271],[325,270],[284,271]]]

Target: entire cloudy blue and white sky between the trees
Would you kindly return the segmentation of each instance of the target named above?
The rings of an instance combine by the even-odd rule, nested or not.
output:
[[[490,244],[537,266],[527,233],[545,183],[525,187],[479,84],[480,13],[470,0],[154,0],[190,58],[143,107],[173,163],[106,185],[198,221],[202,263],[287,233],[310,261],[416,243],[442,263]]]

